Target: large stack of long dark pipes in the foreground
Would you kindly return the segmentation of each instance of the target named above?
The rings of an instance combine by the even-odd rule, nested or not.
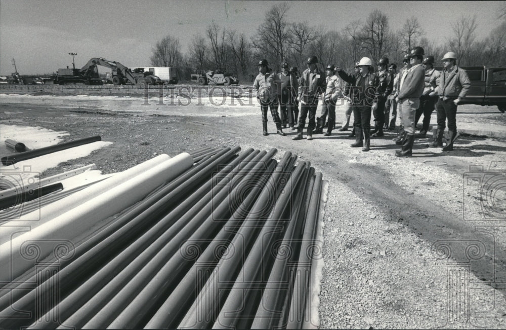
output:
[[[0,291],[2,328],[301,328],[321,173],[286,152],[194,150],[195,164]]]

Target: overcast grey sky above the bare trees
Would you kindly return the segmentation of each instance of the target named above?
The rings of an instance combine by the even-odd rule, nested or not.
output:
[[[148,66],[151,49],[166,34],[180,39],[182,52],[191,36],[203,34],[216,21],[220,26],[254,36],[272,1],[131,1],[131,0],[0,0],[0,75],[46,74],[92,57],[104,57],[126,66]],[[323,24],[341,30],[374,9],[388,15],[397,30],[416,16],[426,37],[443,42],[450,24],[461,15],[476,15],[478,38],[500,24],[505,2],[430,1],[298,1],[290,2],[287,19]],[[478,64],[478,63],[477,63]]]

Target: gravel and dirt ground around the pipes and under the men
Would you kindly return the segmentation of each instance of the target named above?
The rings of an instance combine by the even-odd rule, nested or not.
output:
[[[348,132],[315,135],[313,141],[292,141],[289,130],[287,137],[263,137],[255,102],[150,104],[136,98],[4,97],[0,121],[66,131],[66,140],[99,134],[113,142],[43,176],[90,163],[112,173],[160,153],[206,145],[277,148],[277,159],[291,151],[328,180],[320,328],[506,327],[504,140],[461,137],[454,152],[443,153],[426,148],[429,139],[418,139],[414,157],[399,159],[391,132],[373,139],[364,153],[349,148]],[[506,124],[506,115],[492,108],[465,109],[472,111],[457,121]],[[337,112],[339,122],[344,116]],[[275,131],[270,115],[269,131]],[[0,152],[7,152],[5,146]],[[472,166],[483,171],[469,173]],[[467,178],[475,174],[489,180],[473,185],[476,180]],[[481,195],[486,182],[491,194]],[[495,217],[487,215],[487,205]]]

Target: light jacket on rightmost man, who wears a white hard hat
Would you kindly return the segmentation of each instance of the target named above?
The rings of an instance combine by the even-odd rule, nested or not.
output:
[[[440,98],[463,99],[471,88],[471,81],[466,70],[455,65],[450,71],[443,69],[437,85],[436,92]]]

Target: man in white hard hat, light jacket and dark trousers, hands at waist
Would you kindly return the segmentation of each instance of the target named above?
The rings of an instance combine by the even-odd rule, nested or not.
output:
[[[466,97],[471,88],[471,81],[465,70],[457,66],[457,56],[448,52],[443,56],[443,71],[436,87],[438,103],[436,112],[438,118],[438,130],[436,140],[430,144],[432,147],[443,146],[443,135],[448,119],[448,140],[443,151],[453,150],[453,141],[457,135],[457,104]]]

